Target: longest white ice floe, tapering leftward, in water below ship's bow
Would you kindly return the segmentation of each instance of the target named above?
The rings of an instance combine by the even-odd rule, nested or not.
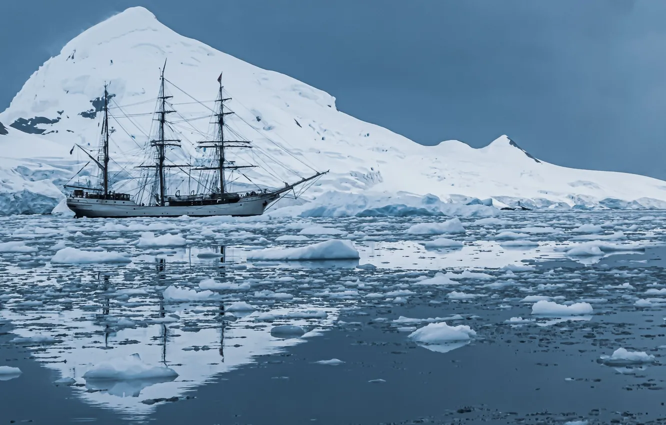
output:
[[[248,260],[358,260],[360,254],[350,240],[331,239],[300,248],[268,248],[248,255]]]

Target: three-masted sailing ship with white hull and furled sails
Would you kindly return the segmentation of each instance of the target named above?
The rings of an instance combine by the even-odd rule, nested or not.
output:
[[[166,63],[165,63],[166,67]],[[225,91],[222,86],[222,75],[218,78],[219,88],[216,99],[216,110],[212,114],[214,124],[214,137],[211,140],[200,141],[197,143],[201,148],[199,151],[208,150],[209,160],[207,163],[198,161],[199,165],[192,164],[174,164],[167,161],[166,153],[169,149],[180,148],[181,140],[176,137],[170,137],[167,134],[169,121],[167,116],[175,113],[173,104],[168,101],[172,96],[167,95],[165,90],[164,68],[160,76],[159,97],[157,98],[157,111],[155,111],[155,121],[157,121],[157,135],[145,145],[146,153],[151,153],[151,164],[142,164],[137,168],[148,171],[143,173],[145,183],[137,185],[137,193],[120,193],[114,191],[110,181],[109,173],[109,143],[113,129],[109,128],[109,102],[113,95],[109,95],[108,86],[104,87],[103,97],[103,121],[101,125],[101,137],[97,158],[89,151],[77,145],[95,165],[99,172],[97,176],[97,185],[90,183],[68,183],[67,189],[71,189],[71,194],[67,197],[67,207],[73,211],[77,218],[120,218],[120,217],[177,217],[187,216],[254,216],[261,215],[273,203],[289,193],[296,194],[295,188],[301,186],[304,191],[312,185],[320,176],[328,173],[317,172],[308,177],[302,177],[294,183],[284,183],[284,186],[277,188],[256,187],[256,189],[246,191],[229,191],[230,173],[240,172],[241,169],[257,167],[256,165],[236,165],[236,161],[230,161],[228,157],[229,149],[248,149],[252,143],[247,140],[226,139],[226,133],[238,135],[236,131],[228,127],[225,123],[225,117],[233,114],[225,102],[230,101],[230,97],[224,97]],[[194,99],[194,98],[192,98]],[[198,101],[197,101],[198,102]],[[200,103],[200,102],[199,102]],[[240,137],[237,137],[240,139]],[[212,155],[210,152],[212,151]],[[85,168],[86,166],[84,166]],[[312,167],[310,167],[312,168]],[[180,191],[175,191],[169,195],[167,171],[176,169],[188,176],[188,179],[197,181],[197,191],[188,191],[188,195],[180,195]],[[81,169],[83,171],[83,169]],[[79,173],[81,173],[79,171]],[[194,176],[192,171],[199,171],[199,178]],[[77,173],[77,175],[79,175]],[[240,172],[242,174],[242,172]],[[75,175],[75,177],[77,177]],[[207,177],[202,177],[207,175]],[[242,174],[244,175],[244,174]],[[245,176],[246,177],[246,176]],[[300,176],[299,176],[300,177]],[[134,179],[134,178],[133,178]],[[139,177],[137,179],[142,179]],[[249,179],[248,179],[249,180]],[[71,180],[70,180],[71,181]],[[308,185],[306,185],[308,183]],[[150,186],[150,192],[147,194],[147,202],[142,202],[146,198],[143,189]],[[301,191],[301,193],[302,193]],[[300,193],[299,193],[300,195]]]

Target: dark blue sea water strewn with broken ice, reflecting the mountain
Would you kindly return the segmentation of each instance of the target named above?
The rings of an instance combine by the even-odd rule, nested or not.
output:
[[[464,234],[432,235],[408,229],[446,218],[2,218],[1,242],[16,243],[0,250],[20,252],[0,258],[0,366],[22,373],[0,375],[0,423],[659,423],[666,213],[500,219],[463,218]],[[502,246],[504,231],[538,246]],[[141,247],[143,232],[187,242]],[[441,237],[464,246],[424,246]],[[352,240],[360,260],[246,260],[328,238]],[[587,240],[603,240],[600,255],[565,252]],[[51,264],[65,246],[132,262]],[[450,282],[421,284],[436,273]],[[217,285],[209,295],[206,279]],[[170,286],[190,299],[165,296]],[[526,296],[593,313],[538,316]],[[255,310],[229,311],[238,301]],[[428,318],[476,338],[414,342]],[[282,324],[305,333],[275,332]],[[618,348],[654,358],[601,362]],[[132,354],[178,376],[84,377]],[[331,359],[342,362],[318,363]]]

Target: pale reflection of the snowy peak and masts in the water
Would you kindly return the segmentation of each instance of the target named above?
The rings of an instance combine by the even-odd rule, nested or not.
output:
[[[13,333],[17,336],[57,336],[58,342],[35,346],[39,349],[33,355],[48,368],[57,370],[60,374],[57,378],[73,378],[76,383],[71,388],[79,398],[127,416],[143,417],[155,409],[151,400],[192,395],[197,386],[218,374],[248,364],[256,356],[304,342],[308,336],[317,334],[312,331],[332,326],[338,313],[336,308],[294,300],[264,303],[250,300],[258,312],[233,313],[226,312],[225,306],[247,299],[238,291],[218,291],[214,298],[196,302],[172,302],[163,296],[167,286],[182,284],[178,282],[187,280],[188,275],[197,276],[190,279],[190,287],[194,289],[198,288],[191,281],[200,280],[198,276],[242,282],[244,276],[237,273],[246,270],[234,268],[236,265],[232,250],[224,246],[214,250],[187,248],[180,253],[156,256],[153,266],[144,262],[125,274],[100,272],[90,280],[79,280],[76,288],[54,288],[67,291],[73,307],[48,304],[35,310],[9,308],[0,312],[0,316],[13,322]],[[322,310],[327,314],[325,318],[285,318],[288,312],[306,310]],[[260,312],[279,318],[260,322],[255,320]],[[35,324],[36,315],[39,324]],[[303,338],[271,335],[272,326],[278,324],[294,324],[311,332]],[[135,353],[146,364],[172,368],[178,376],[83,378],[95,364]]]

